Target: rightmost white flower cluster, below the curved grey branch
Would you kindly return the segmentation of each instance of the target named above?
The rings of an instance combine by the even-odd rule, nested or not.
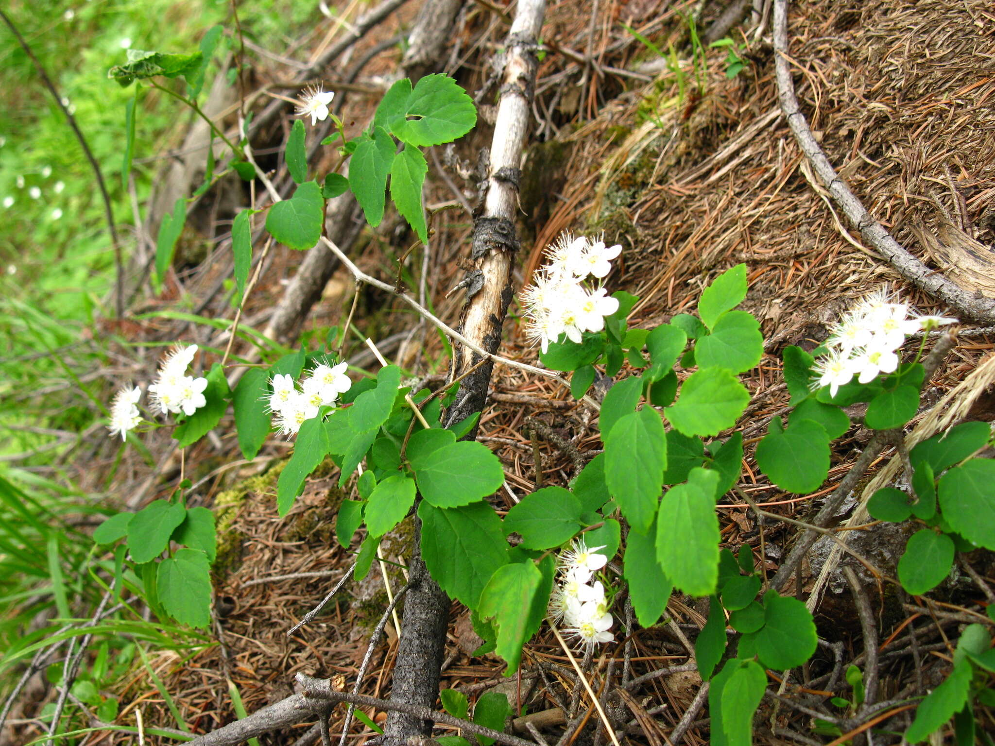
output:
[[[826,340],[829,354],[816,363],[818,378],[812,387],[829,386],[830,394],[836,396],[854,376],[860,383],[870,383],[879,373],[894,373],[898,367],[896,350],[906,334],[956,322],[947,316],[919,315],[907,303],[898,302],[887,288],[873,292],[833,327]]]

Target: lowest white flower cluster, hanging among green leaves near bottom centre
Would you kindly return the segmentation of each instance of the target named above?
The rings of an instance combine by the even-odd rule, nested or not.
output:
[[[608,558],[598,554],[603,546],[588,548],[583,539],[574,541],[563,553],[560,577],[549,603],[549,616],[566,627],[563,632],[572,636],[587,649],[598,643],[611,643],[612,615],[605,601],[605,587],[594,578],[594,573],[608,563]]]

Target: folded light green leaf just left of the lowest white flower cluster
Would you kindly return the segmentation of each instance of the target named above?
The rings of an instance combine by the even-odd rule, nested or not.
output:
[[[495,650],[507,661],[504,675],[518,668],[521,647],[538,631],[545,617],[552,590],[552,557],[547,556],[544,563],[546,573],[531,561],[497,567],[480,597],[481,617],[495,620]]]

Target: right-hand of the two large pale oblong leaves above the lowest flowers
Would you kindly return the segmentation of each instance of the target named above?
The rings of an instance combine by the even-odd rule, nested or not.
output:
[[[718,581],[718,474],[693,468],[688,481],[672,487],[660,503],[657,559],[674,585],[691,596],[708,596]]]

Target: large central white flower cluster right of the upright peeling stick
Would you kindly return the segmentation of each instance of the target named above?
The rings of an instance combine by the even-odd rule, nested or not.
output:
[[[603,241],[584,236],[575,239],[568,233],[549,247],[549,264],[539,269],[532,284],[521,292],[528,317],[526,334],[539,342],[543,352],[561,334],[580,342],[585,331],[605,328],[605,316],[618,310],[619,301],[608,296],[602,280],[621,252],[621,246],[606,247]],[[592,277],[596,284],[588,281]]]

